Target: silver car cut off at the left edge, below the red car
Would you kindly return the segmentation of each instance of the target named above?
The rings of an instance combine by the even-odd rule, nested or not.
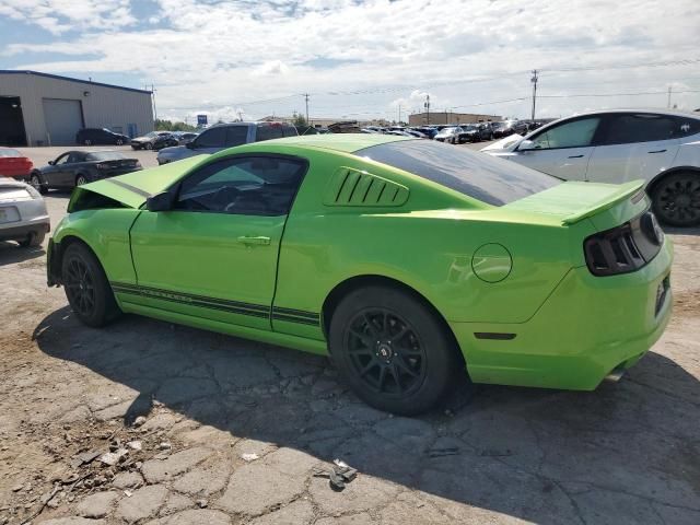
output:
[[[42,195],[28,184],[0,177],[0,241],[40,246],[49,230]]]

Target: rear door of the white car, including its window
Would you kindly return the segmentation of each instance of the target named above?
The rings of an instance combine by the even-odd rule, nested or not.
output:
[[[651,180],[673,165],[681,124],[669,115],[619,113],[607,116],[600,144],[588,163],[594,183]]]

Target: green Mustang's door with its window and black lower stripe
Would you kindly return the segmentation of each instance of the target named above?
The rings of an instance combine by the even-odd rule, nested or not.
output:
[[[133,301],[269,330],[282,232],[306,167],[248,155],[188,175],[171,210],[143,211],[131,229]]]

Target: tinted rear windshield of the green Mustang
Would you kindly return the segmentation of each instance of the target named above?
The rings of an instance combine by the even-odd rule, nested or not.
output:
[[[364,148],[358,156],[398,167],[493,206],[503,206],[561,183],[556,177],[488,153],[432,140]]]

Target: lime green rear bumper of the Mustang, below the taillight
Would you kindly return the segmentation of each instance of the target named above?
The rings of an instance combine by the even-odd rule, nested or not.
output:
[[[660,254],[633,273],[595,277],[586,267],[574,268],[526,323],[451,323],[471,380],[596,388],[612,371],[637,363],[664,332],[673,294],[668,289],[657,302],[657,290],[669,276],[672,260],[666,241]]]

